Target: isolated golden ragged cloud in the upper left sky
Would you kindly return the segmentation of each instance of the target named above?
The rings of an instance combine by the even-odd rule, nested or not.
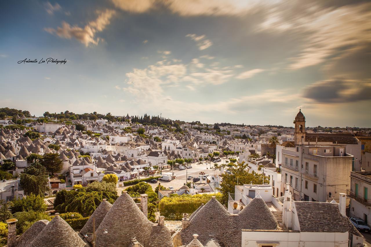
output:
[[[62,22],[62,27],[45,28],[44,30],[51,34],[56,34],[61,38],[71,39],[74,37],[85,46],[90,44],[98,45],[100,38],[95,38],[95,33],[102,32],[107,25],[109,25],[112,16],[116,13],[114,10],[98,11],[98,18],[89,22],[84,28],[77,25],[70,26],[66,22]]]

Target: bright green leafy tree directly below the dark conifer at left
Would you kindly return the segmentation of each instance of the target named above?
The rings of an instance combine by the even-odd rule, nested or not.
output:
[[[10,209],[13,214],[23,211],[45,212],[47,205],[44,202],[44,197],[30,194],[25,198],[13,200],[13,205]]]

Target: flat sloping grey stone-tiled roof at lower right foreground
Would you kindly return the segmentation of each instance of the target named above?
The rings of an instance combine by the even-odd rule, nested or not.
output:
[[[349,231],[347,217],[343,217],[338,204],[328,202],[295,201],[300,231],[345,233]]]

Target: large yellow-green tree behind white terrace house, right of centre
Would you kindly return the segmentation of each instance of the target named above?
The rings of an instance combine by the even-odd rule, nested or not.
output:
[[[239,163],[233,167],[229,168],[232,174],[222,174],[223,182],[220,184],[219,191],[222,194],[222,204],[227,204],[228,193],[234,193],[235,185],[243,184],[265,184],[269,183],[269,177],[265,177],[262,174],[257,174],[255,172],[249,173],[248,166],[244,162]],[[237,184],[238,180],[238,184]]]

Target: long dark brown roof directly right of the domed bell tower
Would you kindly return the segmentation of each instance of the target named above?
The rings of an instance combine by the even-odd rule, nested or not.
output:
[[[306,142],[332,142],[333,144],[358,144],[359,140],[352,134],[319,134],[319,133],[306,133]]]

